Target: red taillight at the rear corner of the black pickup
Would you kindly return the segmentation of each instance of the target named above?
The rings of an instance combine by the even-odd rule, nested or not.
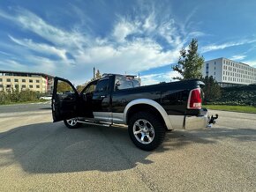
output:
[[[189,93],[187,108],[200,109],[202,107],[202,98],[200,88],[193,89]]]

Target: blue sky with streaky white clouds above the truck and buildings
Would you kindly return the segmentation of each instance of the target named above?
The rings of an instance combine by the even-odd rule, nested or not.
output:
[[[254,0],[1,1],[0,70],[49,73],[76,85],[102,73],[169,81],[192,38],[205,60],[256,66]]]

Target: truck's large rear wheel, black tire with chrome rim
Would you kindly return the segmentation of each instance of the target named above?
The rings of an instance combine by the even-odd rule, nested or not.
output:
[[[150,128],[151,126],[153,126],[153,129]],[[144,151],[152,151],[162,144],[166,129],[163,122],[154,116],[154,114],[139,112],[137,114],[133,114],[132,118],[128,122],[128,132],[133,144],[139,147],[139,149]]]

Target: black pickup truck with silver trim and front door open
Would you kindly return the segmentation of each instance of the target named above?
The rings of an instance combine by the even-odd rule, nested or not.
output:
[[[109,126],[127,124],[132,142],[142,150],[154,150],[168,129],[200,129],[213,123],[201,108],[199,80],[139,86],[123,75],[106,74],[77,92],[71,82],[55,78],[52,96],[54,122],[70,128],[81,123]]]

